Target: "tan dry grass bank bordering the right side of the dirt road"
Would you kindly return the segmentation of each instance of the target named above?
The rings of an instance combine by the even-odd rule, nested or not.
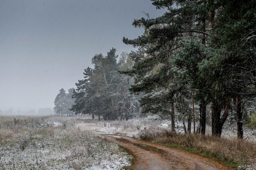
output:
[[[256,144],[246,140],[200,136],[196,134],[176,134],[169,129],[153,127],[140,131],[139,136],[143,140],[196,152],[222,160],[233,166],[252,167],[256,164]],[[254,168],[252,167],[252,169]]]

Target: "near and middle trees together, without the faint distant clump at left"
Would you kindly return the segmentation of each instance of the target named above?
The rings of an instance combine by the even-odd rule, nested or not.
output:
[[[191,133],[193,122],[194,133],[205,135],[210,106],[212,135],[219,137],[235,110],[237,136],[243,138],[244,106],[256,94],[255,0],[152,1],[168,11],[134,20],[133,26],[145,31],[133,40],[123,38],[138,50],[122,53],[119,62],[114,48],[92,58],[94,68],[85,69],[76,83],[70,110],[104,120],[127,120],[140,111],[170,115],[173,131],[179,112],[185,132]]]

